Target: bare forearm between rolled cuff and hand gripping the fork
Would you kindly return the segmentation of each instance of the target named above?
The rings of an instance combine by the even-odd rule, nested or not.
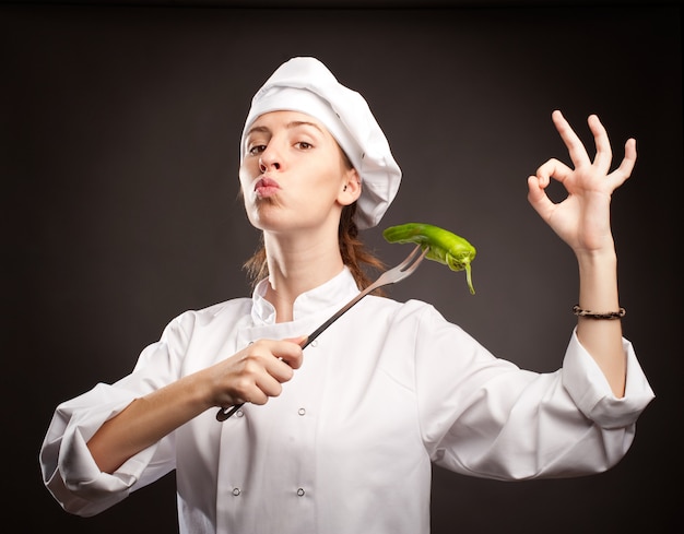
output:
[[[93,459],[113,473],[129,458],[211,407],[200,375],[185,377],[145,396],[107,420],[87,442]]]

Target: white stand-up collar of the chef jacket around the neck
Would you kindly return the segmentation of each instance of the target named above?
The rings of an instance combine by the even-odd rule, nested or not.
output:
[[[275,323],[275,308],[264,298],[268,284],[268,278],[262,280],[252,293],[251,316],[255,325]],[[349,268],[344,265],[340,274],[295,299],[293,319],[298,320],[329,307],[341,308],[357,294],[356,281]]]

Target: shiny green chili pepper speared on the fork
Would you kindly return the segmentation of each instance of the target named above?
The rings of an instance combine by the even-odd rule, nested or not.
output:
[[[425,258],[448,265],[451,271],[465,271],[465,280],[471,294],[475,294],[470,262],[475,259],[475,247],[449,230],[425,223],[406,223],[390,226],[382,232],[389,242],[415,242],[423,250],[428,248]]]

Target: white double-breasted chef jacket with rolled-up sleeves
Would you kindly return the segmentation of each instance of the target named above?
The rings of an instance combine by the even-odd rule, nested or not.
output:
[[[653,397],[627,341],[617,399],[575,333],[561,370],[531,372],[425,302],[368,296],[305,349],[280,396],[224,423],[210,410],[102,473],[85,443],[133,399],[257,339],[307,334],[358,293],[345,268],[276,323],[266,283],[180,315],[131,375],[57,407],[40,464],[66,510],[93,515],[176,470],[184,534],[427,533],[431,463],[497,479],[601,472]]]

